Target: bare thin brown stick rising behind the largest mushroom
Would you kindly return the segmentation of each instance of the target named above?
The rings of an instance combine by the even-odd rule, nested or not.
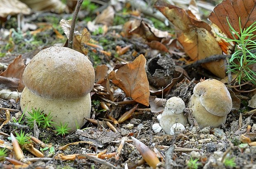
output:
[[[78,15],[78,12],[80,10],[82,3],[83,3],[83,0],[77,1],[76,9],[73,14],[71,28],[69,30],[69,41],[68,41],[68,48],[70,48],[70,49],[73,49],[73,37],[74,37],[74,31],[75,31],[75,26],[76,26],[76,18],[77,18],[77,15]]]

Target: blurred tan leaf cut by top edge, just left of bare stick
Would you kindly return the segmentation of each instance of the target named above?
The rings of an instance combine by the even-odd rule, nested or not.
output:
[[[12,1],[12,0],[11,0]],[[66,5],[60,0],[20,0],[35,11],[50,11],[62,13],[65,11]]]

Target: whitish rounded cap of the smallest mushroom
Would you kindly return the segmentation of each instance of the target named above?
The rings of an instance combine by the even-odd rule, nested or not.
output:
[[[164,106],[164,112],[171,111],[170,113],[179,114],[183,113],[183,110],[185,108],[185,103],[181,98],[171,97],[166,101],[166,104]]]

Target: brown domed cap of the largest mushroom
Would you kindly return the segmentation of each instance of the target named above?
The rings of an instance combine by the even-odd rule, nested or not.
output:
[[[23,73],[23,83],[38,96],[51,100],[76,100],[88,94],[95,72],[82,53],[52,46],[34,56]]]

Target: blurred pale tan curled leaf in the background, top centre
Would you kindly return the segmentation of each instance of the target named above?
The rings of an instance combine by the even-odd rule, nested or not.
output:
[[[114,21],[114,16],[115,16],[114,8],[112,6],[108,6],[106,9],[102,11],[101,14],[99,14],[95,18],[94,23],[111,26]]]

